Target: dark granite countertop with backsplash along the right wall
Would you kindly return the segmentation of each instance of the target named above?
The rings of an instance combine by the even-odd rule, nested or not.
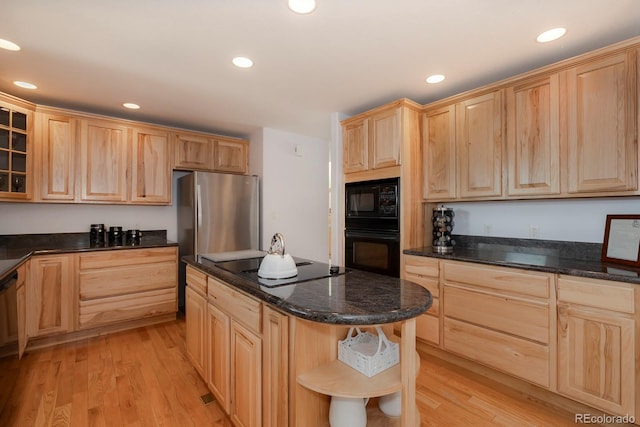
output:
[[[405,254],[640,284],[640,269],[600,261],[602,245],[554,240],[454,236],[453,253],[431,247]]]

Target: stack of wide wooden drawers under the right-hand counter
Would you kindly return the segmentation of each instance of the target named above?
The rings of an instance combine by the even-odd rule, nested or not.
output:
[[[553,275],[444,262],[445,350],[549,388]]]

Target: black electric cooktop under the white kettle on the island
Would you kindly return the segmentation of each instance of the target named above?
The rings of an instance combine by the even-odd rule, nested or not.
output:
[[[310,261],[303,258],[294,257],[293,259],[296,262],[296,267],[298,267],[298,274],[288,279],[264,279],[262,277],[258,277],[258,269],[260,268],[262,258],[217,262],[216,266],[269,288],[291,285],[293,283],[308,282],[310,280],[322,279],[324,277],[339,276],[350,271],[345,267],[330,266],[329,264]]]

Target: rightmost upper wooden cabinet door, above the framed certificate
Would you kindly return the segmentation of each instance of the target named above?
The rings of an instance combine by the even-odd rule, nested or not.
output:
[[[567,71],[568,191],[638,188],[634,53]]]

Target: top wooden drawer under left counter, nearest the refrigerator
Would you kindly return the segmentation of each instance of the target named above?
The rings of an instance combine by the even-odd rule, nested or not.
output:
[[[125,265],[151,264],[157,262],[172,261],[177,263],[177,248],[152,248],[97,251],[82,254],[80,258],[80,270],[92,268],[117,267]]]

